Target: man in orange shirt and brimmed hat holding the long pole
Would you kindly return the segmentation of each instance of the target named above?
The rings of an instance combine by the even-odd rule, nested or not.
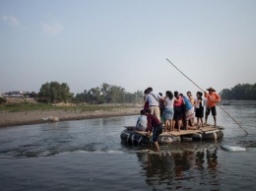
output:
[[[207,89],[207,91],[209,92],[209,94],[207,94],[205,92],[205,97],[207,98],[205,124],[207,124],[208,115],[210,114],[210,111],[212,111],[212,115],[214,116],[214,121],[215,121],[215,127],[217,127],[217,123],[216,123],[216,115],[217,115],[216,103],[221,101],[221,96],[219,96],[216,93],[216,90],[214,90],[213,88],[209,88],[209,89]]]

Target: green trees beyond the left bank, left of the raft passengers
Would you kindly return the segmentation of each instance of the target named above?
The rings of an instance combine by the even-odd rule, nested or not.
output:
[[[138,103],[143,101],[143,92],[128,93],[124,88],[103,83],[100,87],[85,90],[81,94],[70,93],[66,83],[45,83],[38,93],[39,101],[47,103],[76,102],[76,103]]]

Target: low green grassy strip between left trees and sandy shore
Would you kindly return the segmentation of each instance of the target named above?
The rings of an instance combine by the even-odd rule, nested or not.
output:
[[[0,112],[19,112],[19,111],[33,111],[33,110],[65,110],[65,111],[118,111],[124,108],[133,107],[132,105],[102,105],[102,104],[83,104],[83,105],[52,105],[45,103],[36,104],[3,104],[0,105]]]

